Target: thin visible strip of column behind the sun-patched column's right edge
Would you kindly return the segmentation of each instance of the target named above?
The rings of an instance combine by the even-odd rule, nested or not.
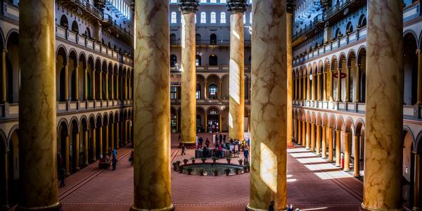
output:
[[[288,7],[286,13],[286,44],[287,44],[287,146],[293,147],[293,49],[292,21],[293,7]],[[291,9],[290,9],[291,8]]]

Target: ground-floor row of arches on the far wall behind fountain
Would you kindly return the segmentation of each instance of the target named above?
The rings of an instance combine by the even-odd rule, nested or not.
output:
[[[181,108],[170,109],[171,132],[180,132]],[[245,107],[245,132],[250,131],[250,111]],[[196,107],[196,131],[197,132],[228,132],[229,131],[229,107],[217,108],[210,106],[203,108]]]

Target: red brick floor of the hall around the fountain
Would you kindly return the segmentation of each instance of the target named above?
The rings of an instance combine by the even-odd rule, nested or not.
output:
[[[172,140],[172,146],[177,146],[177,135]],[[118,150],[120,161],[115,171],[98,170],[98,163],[94,163],[68,177],[65,188],[59,189],[63,210],[129,210],[134,200],[129,152],[129,147]],[[193,149],[186,156],[180,153],[180,149],[173,147],[171,160],[191,158]],[[172,171],[172,202],[177,210],[243,211],[248,198],[248,173],[200,177]],[[359,210],[361,201],[362,182],[350,173],[304,148],[288,150],[288,203],[300,210],[347,211]]]

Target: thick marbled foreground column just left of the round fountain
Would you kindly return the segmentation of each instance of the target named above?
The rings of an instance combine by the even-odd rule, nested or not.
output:
[[[133,144],[137,161],[130,210],[174,210],[169,167],[169,7],[168,0],[139,0],[135,4]]]

